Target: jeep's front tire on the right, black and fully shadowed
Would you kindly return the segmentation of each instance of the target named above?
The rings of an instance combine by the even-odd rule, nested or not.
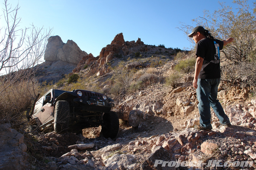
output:
[[[119,119],[116,112],[110,111],[103,115],[102,133],[105,138],[115,138],[119,130]]]

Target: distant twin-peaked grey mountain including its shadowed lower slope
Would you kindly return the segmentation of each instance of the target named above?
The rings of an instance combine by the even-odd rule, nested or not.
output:
[[[59,36],[51,36],[44,53],[45,62],[34,68],[40,83],[55,83],[64,78],[65,74],[72,73],[72,70],[79,72],[82,64],[91,64],[97,59],[92,54],[88,55],[82,51],[72,40],[63,43]]]

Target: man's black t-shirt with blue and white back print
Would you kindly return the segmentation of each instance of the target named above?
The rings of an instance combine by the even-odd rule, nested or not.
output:
[[[198,78],[220,78],[220,54],[223,41],[204,38],[197,42],[196,56],[203,58],[203,65]],[[219,49],[219,50],[218,50]]]

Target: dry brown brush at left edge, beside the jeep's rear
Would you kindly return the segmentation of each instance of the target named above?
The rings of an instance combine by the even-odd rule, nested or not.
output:
[[[0,81],[0,124],[20,124],[27,121],[24,111],[32,108],[39,84],[35,79],[19,79],[11,84],[9,81]]]

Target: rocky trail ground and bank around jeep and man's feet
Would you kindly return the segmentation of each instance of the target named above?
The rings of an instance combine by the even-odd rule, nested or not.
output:
[[[100,127],[84,129],[83,135],[51,132],[37,136],[41,145],[39,150],[44,150],[43,159],[49,161],[46,165],[48,169],[164,169],[161,162],[158,167],[153,167],[155,160],[172,161],[170,157],[164,160],[163,155],[168,153],[154,157],[155,152],[161,151],[160,146],[165,151],[171,151],[175,161],[187,161],[184,166],[178,166],[179,169],[255,169],[256,101],[248,97],[246,89],[227,88],[224,83],[219,91],[219,98],[232,127],[220,126],[212,112],[213,129],[194,130],[193,126],[199,124],[199,116],[195,92],[190,84],[184,83],[177,89],[155,84],[141,93],[117,100],[120,105],[127,106],[126,109],[136,108],[138,103],[139,107],[147,108],[143,103],[149,103],[152,107],[145,110],[147,115],[144,117],[138,114],[141,112],[139,109],[130,111],[130,114],[137,114],[139,118],[136,120],[139,122],[120,119],[120,129],[115,139],[105,139],[100,134]],[[151,104],[150,101],[155,102]],[[166,108],[172,111],[166,112]],[[216,164],[216,161],[219,162]],[[250,164],[247,166],[243,161]],[[207,167],[209,163],[212,164]],[[35,168],[39,167],[35,165]]]

